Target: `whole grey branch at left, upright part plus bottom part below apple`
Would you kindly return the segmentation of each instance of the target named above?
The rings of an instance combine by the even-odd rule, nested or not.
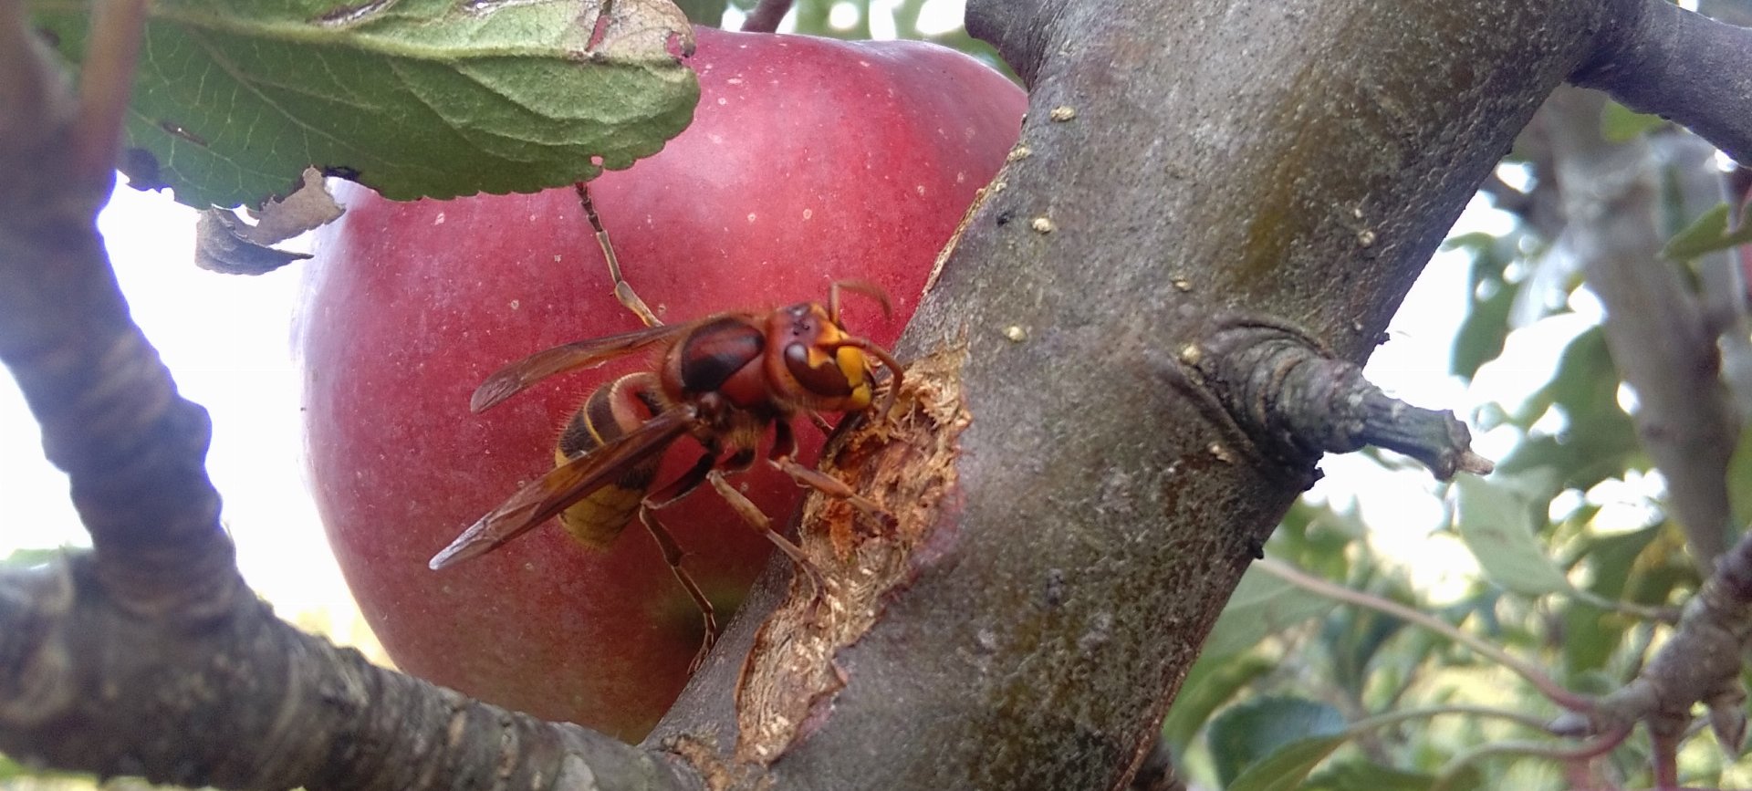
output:
[[[207,413],[177,396],[96,233],[142,2],[105,4],[72,94],[0,0],[0,360],[95,551],[0,574],[0,749],[154,782],[675,788],[650,754],[389,670],[273,618],[237,572]]]

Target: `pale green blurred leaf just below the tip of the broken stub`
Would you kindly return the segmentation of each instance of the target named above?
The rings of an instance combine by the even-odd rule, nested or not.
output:
[[[1533,509],[1544,513],[1545,502],[1517,490],[1517,485],[1544,490],[1542,483],[1528,478],[1456,478],[1459,537],[1479,558],[1484,576],[1507,590],[1529,597],[1572,592],[1570,579],[1533,536],[1535,525],[1544,523],[1535,522]]]

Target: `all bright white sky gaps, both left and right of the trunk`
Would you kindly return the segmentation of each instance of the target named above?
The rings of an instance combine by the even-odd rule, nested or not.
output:
[[[960,4],[932,0],[927,12],[958,19]],[[326,612],[342,632],[357,628],[303,485],[300,378],[291,354],[303,268],[263,276],[196,270],[193,222],[193,210],[170,198],[123,187],[100,228],[135,318],[182,392],[212,413],[208,469],[224,495],[224,520],[245,578],[282,612]],[[1461,228],[1501,229],[1505,222],[1477,203]],[[1517,334],[1507,355],[1514,362],[1487,366],[1468,390],[1447,373],[1449,343],[1466,304],[1466,266],[1461,254],[1435,257],[1368,366],[1388,392],[1463,418],[1480,402],[1519,399],[1544,383],[1561,343],[1580,326],[1545,322]],[[1507,448],[1496,439],[1480,438],[1480,452],[1500,457]],[[1328,457],[1323,467],[1328,478],[1316,495],[1386,494],[1363,500],[1372,525],[1393,525],[1370,536],[1384,551],[1416,562],[1430,581],[1470,569],[1470,556],[1447,544],[1452,539],[1428,534],[1444,516],[1428,472],[1382,471],[1360,457]],[[88,542],[67,502],[67,480],[42,458],[35,422],[11,376],[0,376],[0,556]]]

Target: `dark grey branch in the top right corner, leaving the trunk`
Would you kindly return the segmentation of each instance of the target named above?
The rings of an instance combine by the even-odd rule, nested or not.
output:
[[[1691,128],[1740,163],[1752,163],[1752,28],[1736,28],[1668,0],[1619,0],[1594,52],[1572,82],[1624,107]]]

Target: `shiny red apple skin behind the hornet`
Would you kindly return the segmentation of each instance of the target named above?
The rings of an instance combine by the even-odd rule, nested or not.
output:
[[[846,324],[892,345],[939,247],[1014,144],[1025,96],[979,61],[918,42],[697,30],[692,126],[592,182],[625,278],[664,322],[823,301],[869,280]],[[701,621],[645,530],[608,551],[555,523],[454,569],[427,558],[547,472],[559,425],[622,364],[468,411],[492,371],[639,327],[611,296],[571,189],[391,203],[345,184],[319,234],[300,348],[312,485],[329,542],[396,663],[482,700],[641,738],[687,679]],[[799,420],[813,464],[820,432]],[[669,450],[659,481],[699,457]],[[734,478],[783,522],[799,488]],[[711,492],[661,511],[720,623],[769,544]],[[732,660],[734,662],[734,660]]]

